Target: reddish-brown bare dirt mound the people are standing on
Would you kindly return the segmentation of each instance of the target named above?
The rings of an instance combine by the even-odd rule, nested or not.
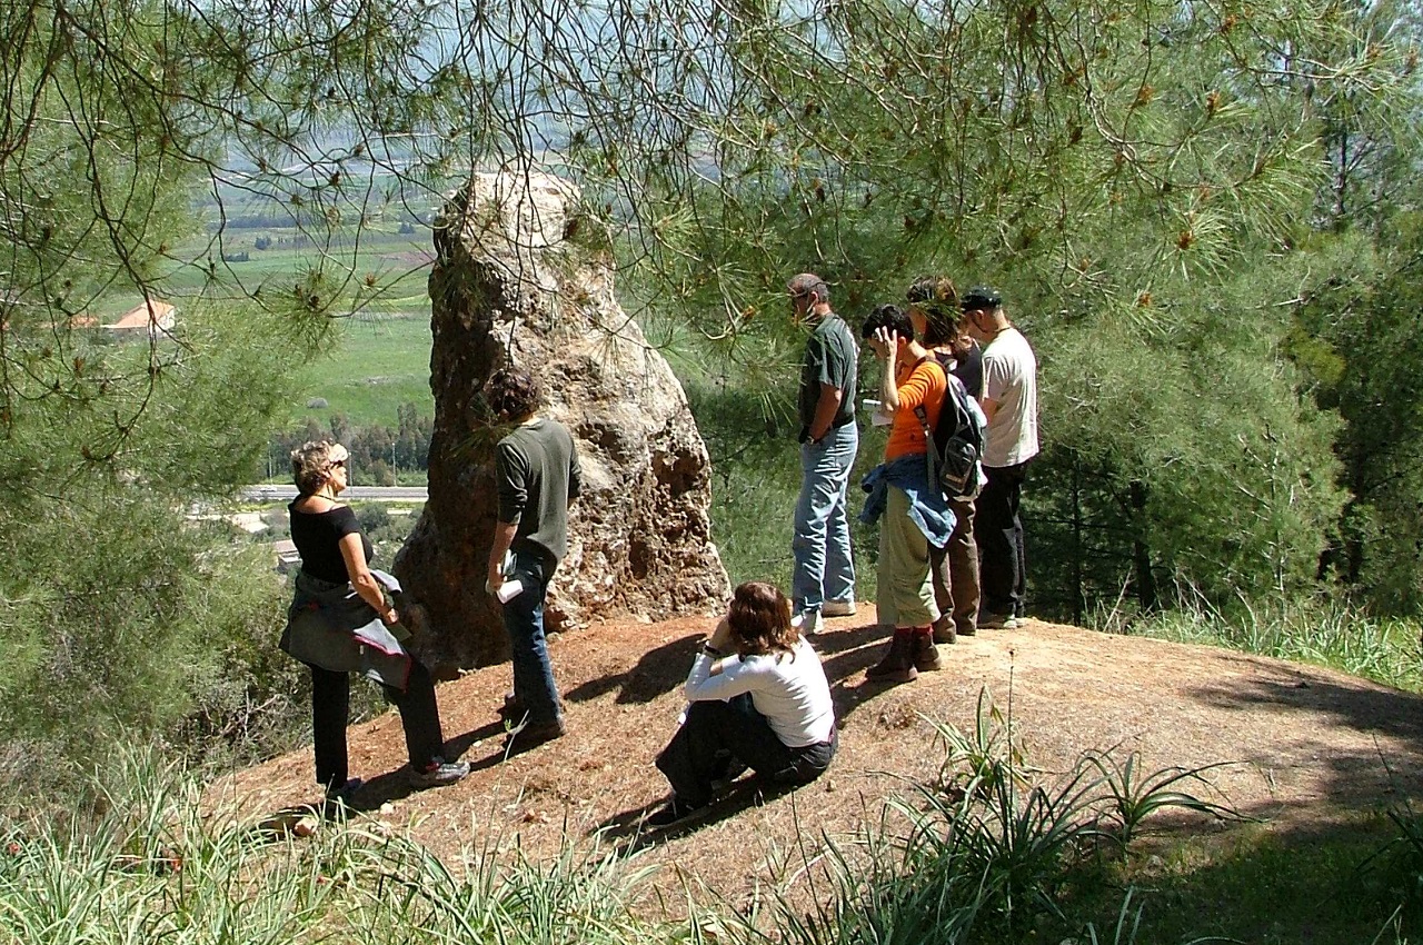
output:
[[[831,679],[841,750],[815,784],[770,798],[748,790],[694,830],[646,835],[645,813],[666,798],[652,759],[683,709],[682,682],[710,619],[603,623],[552,645],[569,734],[505,757],[497,716],[508,666],[440,687],[451,754],[474,767],[462,783],[411,793],[398,719],[350,733],[351,771],[367,778],[359,808],[457,862],[461,848],[544,858],[572,838],[636,844],[665,864],[659,885],[694,878],[733,901],[803,862],[804,844],[847,837],[882,801],[931,778],[943,757],[925,717],[972,732],[988,687],[1012,719],[1029,761],[1069,770],[1084,750],[1146,770],[1238,761],[1211,773],[1211,800],[1285,823],[1333,820],[1397,791],[1417,793],[1423,699],[1312,666],[1205,646],[1111,636],[1027,621],[942,648],[946,669],[905,686],[865,683],[884,646],[874,609],[827,621],[817,648]],[[1385,764],[1385,759],[1387,764]],[[256,820],[319,796],[309,749],[212,786],[211,803]]]

